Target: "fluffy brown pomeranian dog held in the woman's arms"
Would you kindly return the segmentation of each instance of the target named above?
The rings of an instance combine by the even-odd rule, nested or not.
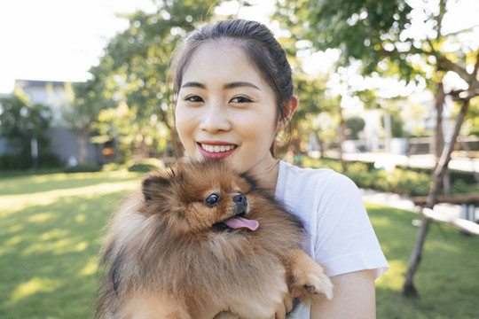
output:
[[[304,237],[253,177],[218,160],[180,161],[147,175],[109,222],[97,316],[264,318],[278,274],[302,302],[331,299]]]

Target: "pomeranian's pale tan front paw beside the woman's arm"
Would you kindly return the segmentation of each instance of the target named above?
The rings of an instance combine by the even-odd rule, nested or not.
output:
[[[324,269],[313,261],[301,249],[295,249],[287,256],[289,290],[293,298],[299,298],[304,303],[320,298],[333,298],[333,284],[326,276]]]

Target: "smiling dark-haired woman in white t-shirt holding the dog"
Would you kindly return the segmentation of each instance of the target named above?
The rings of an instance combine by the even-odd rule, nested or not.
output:
[[[334,299],[295,307],[291,318],[373,318],[374,279],[388,263],[356,185],[332,170],[274,158],[275,140],[298,106],[291,67],[271,31],[246,20],[201,27],[175,54],[177,132],[192,158],[224,159],[257,175],[262,186],[306,224],[304,249],[327,269]],[[271,318],[291,310],[279,276]]]

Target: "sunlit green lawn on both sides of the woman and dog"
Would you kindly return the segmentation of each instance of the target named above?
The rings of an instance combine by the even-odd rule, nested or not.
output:
[[[1,318],[93,317],[101,230],[138,179],[123,172],[0,179]],[[432,225],[415,276],[420,299],[404,298],[418,216],[367,208],[391,266],[377,281],[378,318],[479,317],[479,238]]]

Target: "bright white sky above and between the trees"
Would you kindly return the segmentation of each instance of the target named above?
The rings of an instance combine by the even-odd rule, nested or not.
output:
[[[462,1],[464,5],[446,21],[452,31],[479,23],[479,0]],[[274,0],[253,2],[260,7],[244,9],[240,17],[266,23],[264,15],[271,12]],[[127,19],[118,18],[117,13],[136,10],[152,12],[152,1],[0,0],[0,94],[11,92],[15,79],[87,80],[90,66],[98,63],[108,40],[128,27]],[[235,8],[224,5],[223,10]],[[274,32],[274,25],[269,26]],[[479,43],[479,34],[475,43]],[[311,65],[318,68],[325,60],[334,59],[334,53],[318,53],[312,58]]]

